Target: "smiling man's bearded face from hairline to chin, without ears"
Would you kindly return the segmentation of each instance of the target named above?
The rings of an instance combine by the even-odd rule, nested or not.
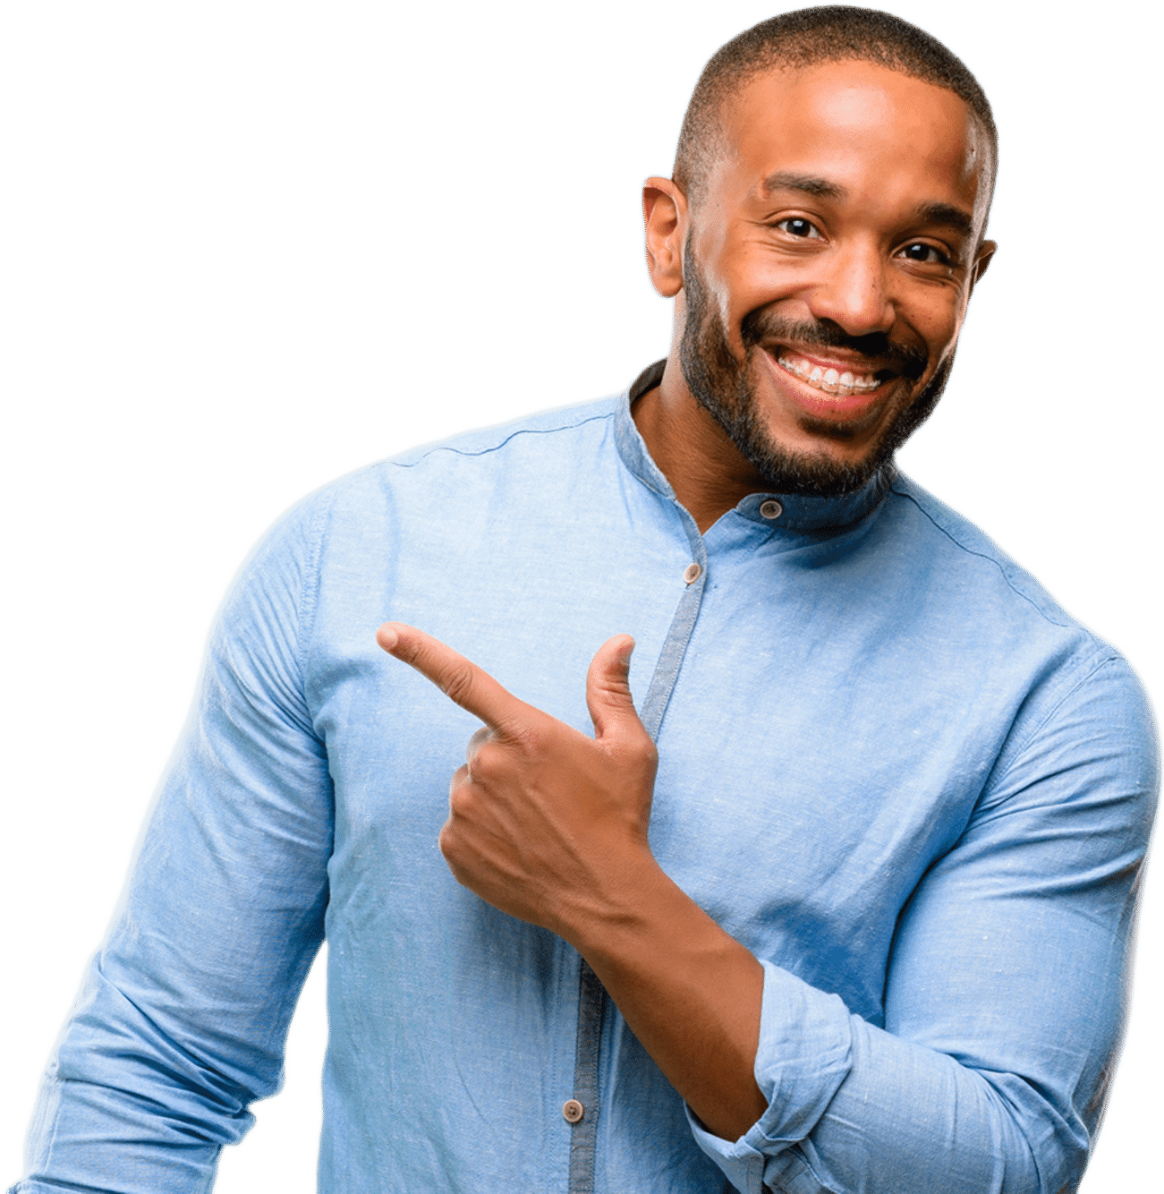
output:
[[[688,388],[766,485],[862,486],[941,401],[993,244],[961,99],[863,62],[772,72],[726,121],[683,253]]]

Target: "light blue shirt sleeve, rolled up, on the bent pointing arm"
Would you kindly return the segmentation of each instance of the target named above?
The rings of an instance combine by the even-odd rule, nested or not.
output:
[[[901,912],[883,1027],[764,961],[768,1110],[734,1143],[688,1113],[737,1189],[1078,1189],[1135,1009],[1160,721],[1123,658],[1035,720]]]

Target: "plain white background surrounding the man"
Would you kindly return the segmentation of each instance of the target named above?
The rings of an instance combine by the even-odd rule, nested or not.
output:
[[[1137,303],[1126,215],[1090,172],[1101,149],[1119,153],[1103,140],[1119,88],[1072,64],[1115,43],[1095,27],[1017,31],[997,4],[904,11],[984,75],[1006,154],[1003,252],[953,394],[905,463],[1151,679],[1159,420],[1121,356]],[[13,535],[30,630],[13,654],[30,714],[17,733],[35,758],[18,783],[35,826],[12,935],[20,1108],[235,558],[351,464],[615,388],[663,351],[638,180],[666,168],[703,54],[762,12],[716,6],[682,25],[614,6],[544,25],[88,18],[30,47],[42,70],[20,326],[35,480],[14,486]],[[1150,922],[1148,958],[1153,940]],[[291,1090],[228,1155],[224,1192],[276,1171],[309,1188],[319,978]],[[1122,1158],[1143,1152],[1129,1108],[1157,1055],[1141,1015],[1089,1192],[1119,1189]]]

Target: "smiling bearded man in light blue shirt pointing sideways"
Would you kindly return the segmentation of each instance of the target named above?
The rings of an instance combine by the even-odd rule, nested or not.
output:
[[[643,187],[665,362],[255,541],[16,1188],[204,1188],[325,936],[321,1189],[1082,1177],[1154,710],[893,472],[996,248],[997,158],[973,76],[862,13],[706,68]],[[386,616],[423,675],[377,656]]]

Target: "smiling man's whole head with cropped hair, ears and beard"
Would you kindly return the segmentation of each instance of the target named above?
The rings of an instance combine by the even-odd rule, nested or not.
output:
[[[704,62],[673,178],[645,185],[647,264],[686,388],[763,487],[851,491],[931,417],[998,154],[973,72],[885,10],[790,10]]]

